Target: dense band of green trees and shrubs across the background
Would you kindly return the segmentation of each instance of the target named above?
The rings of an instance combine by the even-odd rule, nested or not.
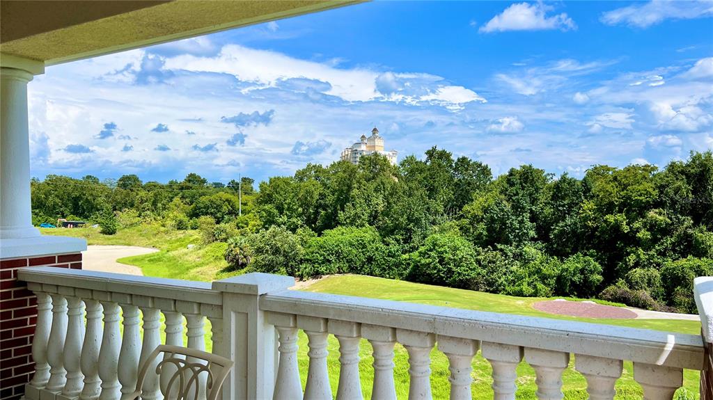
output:
[[[692,279],[713,274],[713,154],[598,165],[583,179],[532,165],[494,178],[436,147],[392,166],[308,164],[252,189],[242,181],[143,183],[48,176],[36,223],[89,219],[106,233],[147,221],[227,242],[235,269],[301,278],[359,273],[520,296],[597,297],[694,312]]]

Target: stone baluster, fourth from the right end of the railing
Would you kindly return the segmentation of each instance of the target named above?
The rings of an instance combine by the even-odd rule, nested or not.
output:
[[[516,369],[523,359],[523,348],[511,344],[483,342],[481,354],[493,367],[493,399],[515,400]]]

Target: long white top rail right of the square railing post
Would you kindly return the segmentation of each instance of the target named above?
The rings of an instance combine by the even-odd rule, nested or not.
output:
[[[282,290],[260,309],[668,367],[701,369],[701,337],[543,317]]]

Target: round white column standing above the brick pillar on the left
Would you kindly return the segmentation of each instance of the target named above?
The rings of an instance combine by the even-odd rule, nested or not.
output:
[[[40,236],[32,226],[30,201],[27,83],[31,80],[26,70],[0,68],[0,240]]]

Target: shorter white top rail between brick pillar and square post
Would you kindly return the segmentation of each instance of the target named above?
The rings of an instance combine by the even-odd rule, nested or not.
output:
[[[210,283],[193,280],[150,278],[147,276],[68,270],[53,267],[28,267],[18,270],[18,279],[30,283],[67,286],[88,290],[143,295],[221,305],[222,294]]]

